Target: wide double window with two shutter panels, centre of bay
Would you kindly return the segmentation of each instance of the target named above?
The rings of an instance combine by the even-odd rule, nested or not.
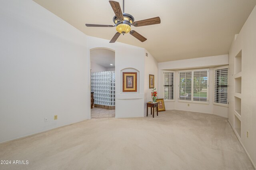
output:
[[[208,103],[209,69],[180,71],[179,101]]]

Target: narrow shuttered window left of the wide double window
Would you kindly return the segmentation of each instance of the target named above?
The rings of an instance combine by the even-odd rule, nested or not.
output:
[[[174,99],[174,72],[164,71],[164,99]]]

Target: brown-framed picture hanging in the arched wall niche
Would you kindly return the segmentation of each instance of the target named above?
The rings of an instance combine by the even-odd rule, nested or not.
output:
[[[137,73],[123,72],[123,92],[137,91]]]

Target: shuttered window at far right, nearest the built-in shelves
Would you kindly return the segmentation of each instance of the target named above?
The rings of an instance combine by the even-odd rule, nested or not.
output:
[[[228,105],[228,67],[214,69],[214,104]]]

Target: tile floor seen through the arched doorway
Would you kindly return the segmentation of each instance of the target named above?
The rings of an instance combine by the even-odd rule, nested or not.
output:
[[[108,110],[108,109],[101,109],[98,107],[93,107],[91,109],[91,118],[97,119],[97,118],[112,118],[115,117],[115,110]]]

